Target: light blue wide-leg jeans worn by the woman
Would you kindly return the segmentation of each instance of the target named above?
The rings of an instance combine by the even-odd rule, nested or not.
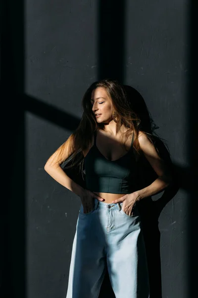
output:
[[[141,217],[123,203],[95,199],[83,213],[81,204],[73,240],[66,298],[98,298],[107,266],[116,298],[149,298],[148,267]]]

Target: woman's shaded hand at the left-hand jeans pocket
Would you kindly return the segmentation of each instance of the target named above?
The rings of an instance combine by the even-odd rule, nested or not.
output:
[[[84,189],[83,192],[82,192],[82,195],[80,196],[80,198],[81,198],[81,202],[82,202],[82,205],[83,205],[83,212],[84,213],[89,213],[90,211],[93,210],[95,199],[97,199],[101,202],[104,201],[104,199],[102,199],[100,196],[93,193],[89,189]]]

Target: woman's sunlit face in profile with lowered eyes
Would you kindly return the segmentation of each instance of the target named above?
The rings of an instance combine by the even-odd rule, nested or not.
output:
[[[113,107],[105,88],[98,87],[92,91],[91,104],[98,123],[112,120]],[[97,117],[96,114],[100,115]]]

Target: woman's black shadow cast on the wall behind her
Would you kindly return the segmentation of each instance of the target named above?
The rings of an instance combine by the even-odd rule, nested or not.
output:
[[[142,95],[135,88],[129,85],[124,85],[124,87],[131,108],[141,120],[140,130],[153,134],[154,130],[158,127],[155,126]],[[149,298],[162,298],[160,231],[158,228],[158,218],[166,204],[178,192],[179,183],[177,181],[176,168],[171,161],[169,151],[164,142],[161,140],[161,138],[154,135],[152,135],[152,141],[159,155],[169,165],[169,168],[172,171],[172,176],[174,178],[174,182],[162,192],[162,195],[158,200],[154,201],[151,197],[147,197],[145,199],[142,199],[138,203],[148,261],[148,275],[150,285]],[[77,158],[81,158],[81,156],[77,155]],[[144,188],[151,184],[157,178],[157,175],[152,169],[144,154],[138,161],[138,165],[138,180],[140,182],[140,187]],[[85,187],[85,181],[82,179],[82,172],[79,170],[78,166],[72,169],[68,169],[67,175],[69,175],[70,178],[73,179],[76,183],[80,184],[82,187]],[[107,271],[100,288],[99,298],[115,298]]]

